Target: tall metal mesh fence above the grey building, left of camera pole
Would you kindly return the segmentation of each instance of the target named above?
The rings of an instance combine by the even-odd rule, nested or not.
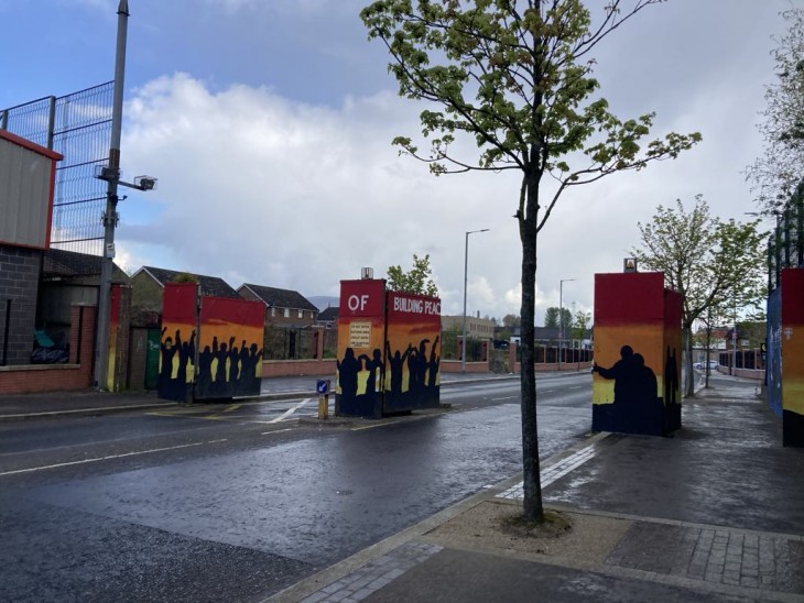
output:
[[[101,255],[113,81],[0,110],[0,128],[64,155],[56,166],[51,244]]]

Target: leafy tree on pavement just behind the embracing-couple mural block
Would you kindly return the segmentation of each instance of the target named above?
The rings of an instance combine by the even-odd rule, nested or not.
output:
[[[725,317],[734,322],[740,311],[758,308],[764,299],[765,257],[758,224],[711,218],[700,195],[689,212],[676,200],[674,209],[659,206],[652,223],[639,223],[644,249],[634,249],[634,257],[642,267],[663,272],[667,287],[682,296],[687,397],[695,395],[694,322],[711,326]]]

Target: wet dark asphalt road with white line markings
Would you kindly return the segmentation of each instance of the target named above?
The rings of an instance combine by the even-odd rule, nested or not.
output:
[[[537,386],[546,458],[588,431],[590,379]],[[303,399],[0,426],[0,600],[260,600],[520,471],[517,380],[442,402],[325,428]]]

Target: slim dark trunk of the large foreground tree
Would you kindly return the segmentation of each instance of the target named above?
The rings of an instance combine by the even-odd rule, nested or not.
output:
[[[535,297],[536,297],[536,218],[537,183],[528,183],[528,208],[520,217],[522,240],[522,469],[524,486],[524,518],[543,522],[541,469],[539,467],[539,426],[536,421],[535,374]]]

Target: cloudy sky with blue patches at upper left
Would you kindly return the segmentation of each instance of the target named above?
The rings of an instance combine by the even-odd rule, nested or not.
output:
[[[659,205],[702,195],[713,216],[753,219],[745,169],[761,154],[771,51],[780,13],[803,2],[670,0],[596,48],[598,95],[616,116],[655,111],[651,139],[703,142],[562,197],[540,234],[537,325],[559,304],[591,313],[595,274],[622,271]],[[520,179],[435,177],[399,156],[391,140],[421,132],[423,106],[398,96],[358,17],[367,3],[129,0],[121,167],[159,187],[126,191],[116,262],[315,297],[338,296],[362,267],[383,277],[428,254],[442,314],[463,313],[465,271],[468,314],[519,314]],[[112,79],[117,7],[0,0],[0,108]],[[481,229],[466,261],[466,232]]]

